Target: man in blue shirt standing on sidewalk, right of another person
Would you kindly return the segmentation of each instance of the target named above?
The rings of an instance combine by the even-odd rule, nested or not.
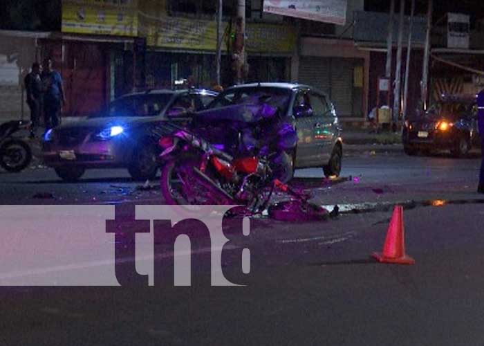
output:
[[[61,107],[66,103],[66,98],[61,75],[53,70],[52,60],[47,58],[42,65],[44,67],[41,74],[44,86],[44,120],[48,130],[59,125]]]

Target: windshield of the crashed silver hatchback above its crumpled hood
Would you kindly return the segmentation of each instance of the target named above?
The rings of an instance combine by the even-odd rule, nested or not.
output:
[[[229,89],[210,103],[208,108],[232,106],[234,104],[270,104],[286,110],[290,102],[291,90],[274,87],[255,86]]]

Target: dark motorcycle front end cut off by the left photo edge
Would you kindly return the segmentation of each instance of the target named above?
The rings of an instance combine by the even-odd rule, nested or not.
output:
[[[12,120],[0,125],[0,166],[8,172],[20,172],[32,161],[32,149],[28,143],[14,134],[28,130],[30,122]]]

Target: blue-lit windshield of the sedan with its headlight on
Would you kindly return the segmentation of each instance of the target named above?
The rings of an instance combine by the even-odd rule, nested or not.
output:
[[[118,98],[95,117],[111,116],[158,116],[165,109],[172,95],[169,93],[156,95],[131,95]]]

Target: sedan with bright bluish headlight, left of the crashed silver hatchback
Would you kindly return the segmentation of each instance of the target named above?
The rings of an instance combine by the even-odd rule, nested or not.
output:
[[[80,179],[89,168],[111,167],[126,167],[136,180],[152,179],[158,171],[160,123],[169,114],[205,109],[216,95],[201,89],[124,95],[93,116],[47,131],[44,162],[65,181]]]

